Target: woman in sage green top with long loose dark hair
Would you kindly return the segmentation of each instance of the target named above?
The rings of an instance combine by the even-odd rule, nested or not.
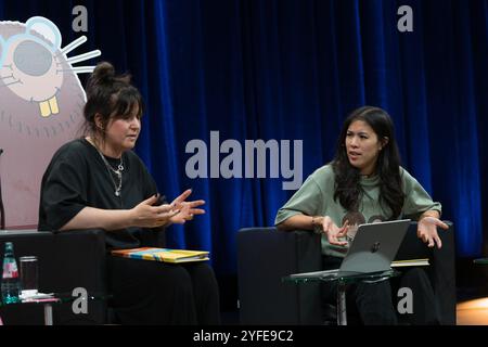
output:
[[[440,248],[437,227],[448,229],[439,220],[440,213],[440,204],[433,202],[400,166],[389,115],[378,107],[364,106],[345,120],[332,163],[308,177],[278,211],[275,224],[285,231],[321,233],[324,268],[331,268],[338,267],[348,249],[347,239],[354,237],[350,223],[357,222],[349,220],[351,217],[356,221],[416,219],[419,237],[428,247]],[[420,272],[419,277],[425,282],[425,274]],[[387,281],[360,283],[350,291],[364,324],[397,323]],[[334,292],[335,288],[329,291],[326,298]],[[433,323],[436,318],[427,320]]]

